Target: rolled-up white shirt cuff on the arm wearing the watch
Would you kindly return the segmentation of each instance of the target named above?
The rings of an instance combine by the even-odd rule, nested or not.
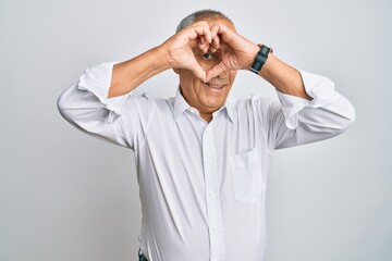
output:
[[[295,129],[298,126],[298,112],[304,108],[320,108],[333,102],[336,97],[334,83],[329,78],[299,70],[306,92],[313,98],[311,101],[279,90],[278,97],[287,128]]]

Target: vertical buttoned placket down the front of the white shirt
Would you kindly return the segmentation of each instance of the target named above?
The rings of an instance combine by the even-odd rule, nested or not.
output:
[[[206,183],[206,204],[210,241],[210,261],[224,260],[222,214],[218,182],[217,156],[212,124],[203,134],[203,162]]]

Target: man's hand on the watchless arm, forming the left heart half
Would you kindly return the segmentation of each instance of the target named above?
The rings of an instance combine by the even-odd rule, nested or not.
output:
[[[218,49],[218,46],[217,30],[211,32],[207,22],[199,21],[180,30],[161,47],[166,50],[170,67],[189,70],[196,77],[206,82],[207,73],[198,64],[193,49],[198,48],[207,52],[209,49]]]

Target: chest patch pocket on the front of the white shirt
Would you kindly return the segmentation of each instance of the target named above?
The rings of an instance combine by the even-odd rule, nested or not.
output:
[[[230,157],[229,172],[236,200],[255,202],[261,197],[264,183],[260,160],[257,148]]]

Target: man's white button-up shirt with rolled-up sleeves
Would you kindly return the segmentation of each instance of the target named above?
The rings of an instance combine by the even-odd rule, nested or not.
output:
[[[355,117],[330,79],[301,71],[313,101],[228,100],[207,123],[180,91],[108,99],[112,65],[86,70],[58,104],[82,130],[135,151],[149,261],[262,260],[273,151],[333,137]]]

